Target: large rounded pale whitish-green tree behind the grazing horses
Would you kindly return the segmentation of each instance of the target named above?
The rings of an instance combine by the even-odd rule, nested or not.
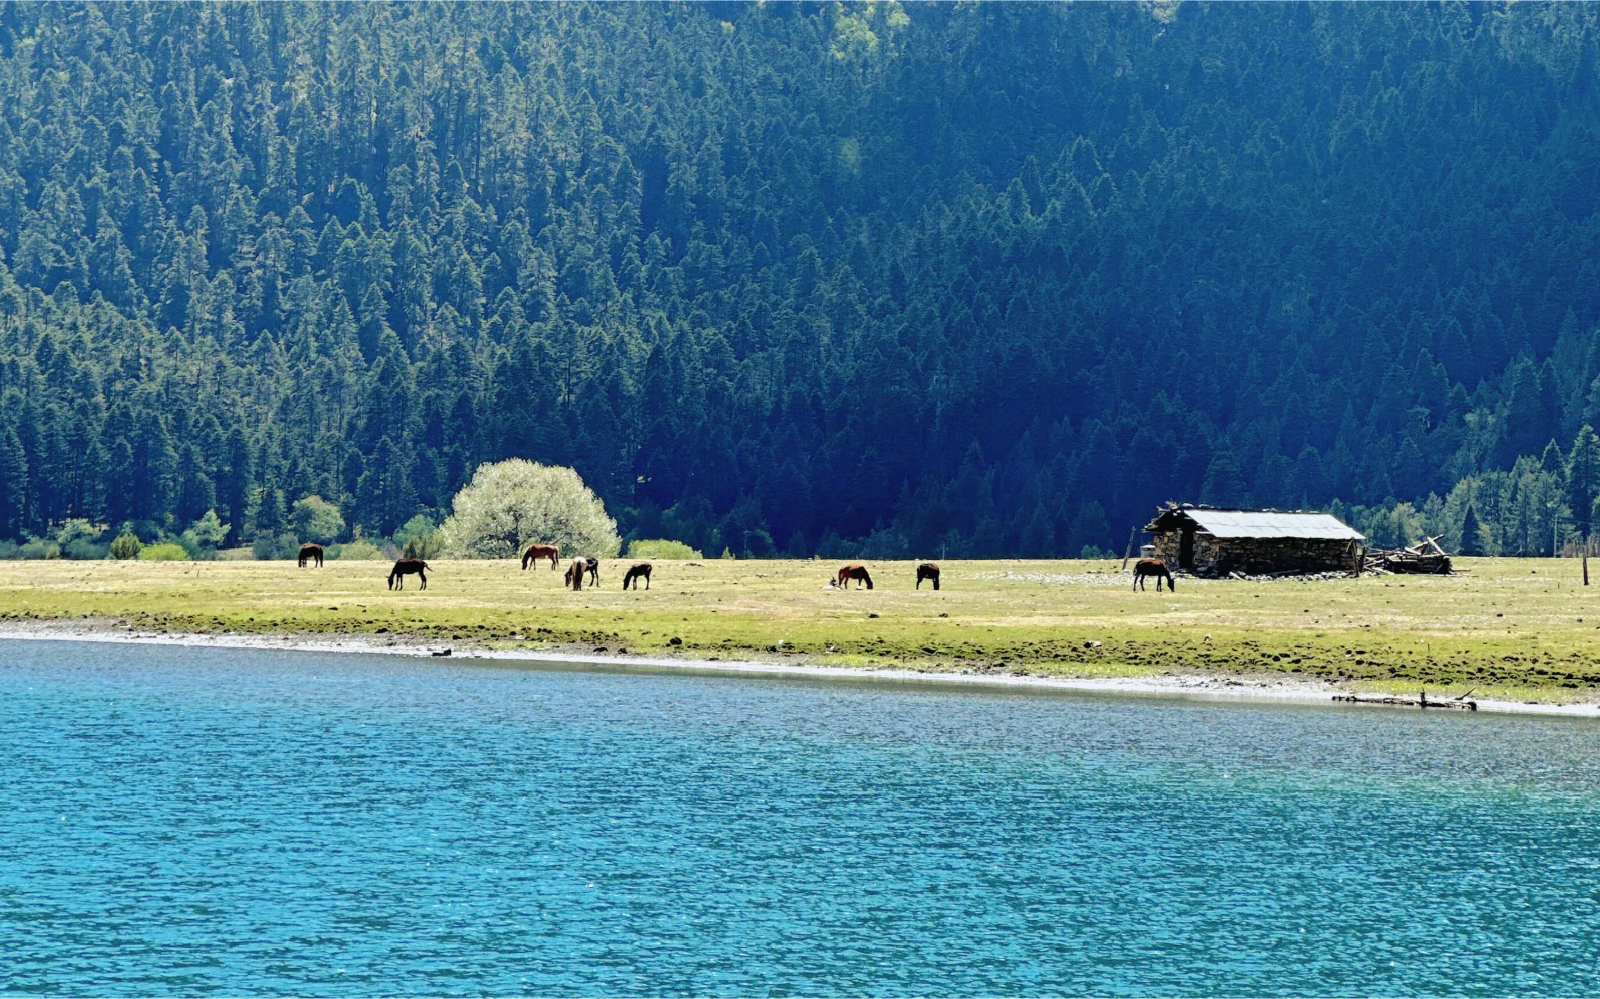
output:
[[[456,557],[512,559],[534,541],[602,559],[622,548],[600,496],[565,466],[525,458],[480,464],[451,509],[440,533]]]

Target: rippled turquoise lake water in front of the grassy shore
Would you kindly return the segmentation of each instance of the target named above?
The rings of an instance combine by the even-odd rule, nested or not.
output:
[[[1594,994],[1600,720],[0,642],[0,991]]]

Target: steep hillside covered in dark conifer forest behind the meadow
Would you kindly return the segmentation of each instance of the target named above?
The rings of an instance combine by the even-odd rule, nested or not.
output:
[[[0,538],[387,536],[523,456],[707,551],[1050,556],[1523,455],[1550,536],[1597,19],[8,3]]]

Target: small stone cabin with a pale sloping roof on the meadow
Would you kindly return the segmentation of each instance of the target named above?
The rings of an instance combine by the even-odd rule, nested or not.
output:
[[[1166,565],[1198,576],[1360,572],[1366,538],[1333,514],[1168,506],[1146,527]]]

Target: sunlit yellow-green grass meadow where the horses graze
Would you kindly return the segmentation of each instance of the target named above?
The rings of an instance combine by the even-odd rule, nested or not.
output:
[[[562,589],[517,562],[435,562],[390,592],[386,562],[0,562],[0,620],[102,620],[171,632],[408,636],[461,647],[1029,672],[1286,674],[1357,688],[1592,700],[1600,586],[1579,564],[1462,559],[1467,575],[1181,580],[1131,592],[1118,562],[874,564],[877,589],[824,589],[832,562],[658,560],[650,592]],[[1600,570],[1600,567],[1597,567]],[[674,642],[677,639],[677,642]],[[1096,645],[1098,644],[1098,645]]]

